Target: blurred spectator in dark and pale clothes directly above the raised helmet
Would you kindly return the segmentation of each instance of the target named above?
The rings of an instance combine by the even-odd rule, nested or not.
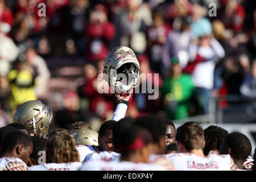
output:
[[[146,30],[153,23],[150,7],[141,0],[129,0],[122,11],[114,14],[113,22],[117,28],[115,46],[130,47],[135,53],[146,51]]]

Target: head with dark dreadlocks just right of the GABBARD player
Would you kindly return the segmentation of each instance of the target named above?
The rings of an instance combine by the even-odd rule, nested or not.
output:
[[[218,154],[222,140],[228,135],[228,131],[218,126],[209,126],[204,130],[204,155]]]

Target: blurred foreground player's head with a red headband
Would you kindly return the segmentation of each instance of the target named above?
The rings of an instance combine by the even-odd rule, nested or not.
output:
[[[152,153],[152,136],[144,128],[129,121],[118,121],[113,129],[113,141],[121,160],[147,163]]]

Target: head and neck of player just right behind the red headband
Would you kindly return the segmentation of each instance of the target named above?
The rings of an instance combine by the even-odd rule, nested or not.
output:
[[[163,154],[165,150],[166,123],[163,118],[155,115],[139,117],[135,124],[147,129],[152,135],[154,142],[154,153]]]

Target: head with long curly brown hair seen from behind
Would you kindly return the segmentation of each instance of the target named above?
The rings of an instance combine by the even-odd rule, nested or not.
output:
[[[79,152],[73,137],[65,133],[56,134],[46,143],[46,163],[79,162]]]

